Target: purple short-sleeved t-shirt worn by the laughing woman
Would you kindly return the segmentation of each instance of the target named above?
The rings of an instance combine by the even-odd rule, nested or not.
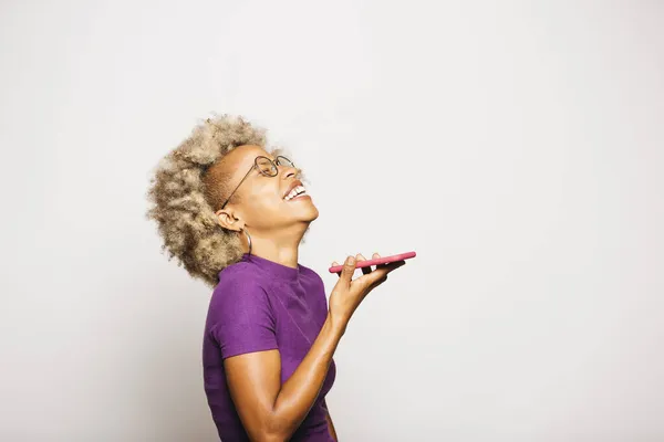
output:
[[[246,254],[219,273],[205,326],[203,371],[208,404],[224,442],[249,440],[226,383],[224,359],[279,349],[283,383],[309,352],[326,316],[323,281],[303,265],[292,269]],[[332,362],[292,441],[333,441],[325,420],[325,394],[335,373]]]

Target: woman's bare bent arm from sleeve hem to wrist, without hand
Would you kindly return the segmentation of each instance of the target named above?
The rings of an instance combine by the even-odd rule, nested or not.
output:
[[[318,397],[342,334],[343,327],[328,315],[311,349],[283,385],[278,350],[225,360],[230,393],[251,440],[286,441],[293,434]]]

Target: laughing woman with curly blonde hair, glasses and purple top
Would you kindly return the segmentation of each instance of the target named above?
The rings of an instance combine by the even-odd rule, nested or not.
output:
[[[332,356],[364,296],[403,262],[330,294],[298,248],[319,215],[300,170],[266,150],[264,133],[215,117],[159,165],[149,190],[169,257],[215,287],[205,327],[205,391],[224,441],[335,441],[325,404]],[[375,256],[374,256],[375,257]]]

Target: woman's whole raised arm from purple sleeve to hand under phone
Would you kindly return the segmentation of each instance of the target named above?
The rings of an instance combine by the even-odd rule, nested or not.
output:
[[[300,427],[318,397],[332,356],[347,322],[362,299],[382,284],[393,263],[352,281],[354,260],[347,259],[330,295],[326,319],[292,376],[281,385],[281,355],[276,346],[274,323],[260,290],[245,282],[230,284],[220,311],[217,339],[230,396],[252,441],[286,441]]]

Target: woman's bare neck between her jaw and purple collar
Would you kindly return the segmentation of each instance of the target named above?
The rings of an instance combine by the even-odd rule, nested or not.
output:
[[[251,254],[263,257],[266,260],[286,265],[288,267],[298,267],[298,253],[300,241],[304,236],[307,225],[304,228],[293,229],[287,232],[260,232],[247,229],[251,235]],[[243,236],[245,252],[248,252],[249,246],[247,238]]]

